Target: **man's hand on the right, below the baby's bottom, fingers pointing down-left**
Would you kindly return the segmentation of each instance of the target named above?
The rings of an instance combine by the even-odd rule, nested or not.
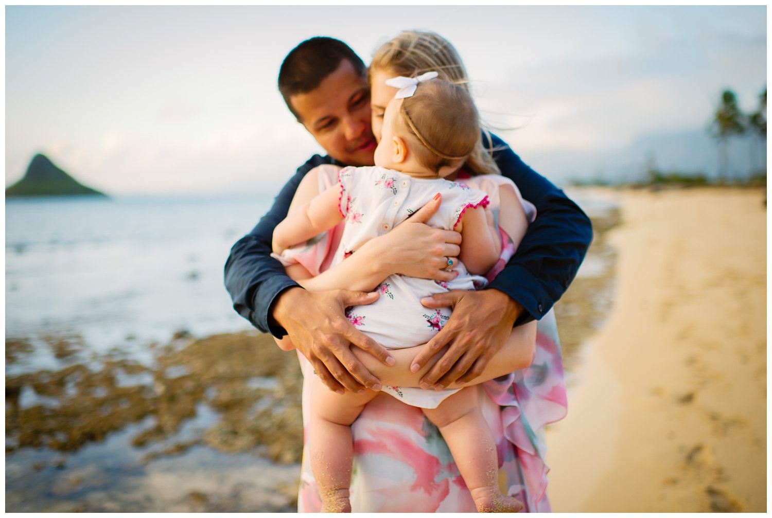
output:
[[[429,308],[453,307],[445,327],[415,357],[410,370],[420,371],[442,347],[450,348],[421,379],[422,388],[440,390],[454,381],[478,377],[512,333],[523,306],[496,289],[455,290],[421,300]]]

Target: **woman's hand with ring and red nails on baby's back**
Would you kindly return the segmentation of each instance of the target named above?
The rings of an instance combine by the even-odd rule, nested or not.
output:
[[[354,256],[371,258],[381,280],[395,273],[445,282],[455,279],[458,273],[445,268],[448,259],[461,252],[461,234],[426,225],[441,203],[442,197],[435,196],[391,232],[365,243]]]

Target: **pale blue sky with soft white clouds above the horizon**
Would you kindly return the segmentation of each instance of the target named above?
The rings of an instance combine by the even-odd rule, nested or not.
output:
[[[320,151],[276,91],[286,52],[336,36],[367,63],[401,29],[456,46],[483,116],[520,127],[499,133],[537,171],[613,172],[642,163],[629,151],[642,138],[703,130],[725,87],[755,107],[766,19],[761,6],[6,7],[5,181],[43,152],[113,194],[273,194]]]

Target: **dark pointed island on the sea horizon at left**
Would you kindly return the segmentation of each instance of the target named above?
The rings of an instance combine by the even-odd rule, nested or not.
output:
[[[24,178],[5,189],[5,196],[104,196],[104,193],[86,187],[66,172],[57,168],[43,154],[36,154],[29,162]]]

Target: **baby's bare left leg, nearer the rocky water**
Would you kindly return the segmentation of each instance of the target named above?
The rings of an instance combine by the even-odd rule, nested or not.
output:
[[[313,478],[322,500],[322,513],[350,513],[349,486],[354,444],[351,423],[378,392],[330,391],[313,376],[308,451]]]

